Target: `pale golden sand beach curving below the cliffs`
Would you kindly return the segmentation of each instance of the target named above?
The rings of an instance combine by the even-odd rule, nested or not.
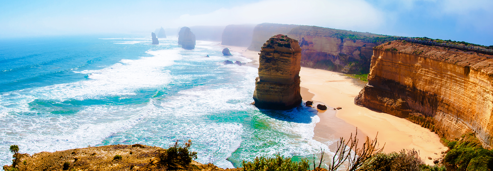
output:
[[[247,47],[219,46],[241,53],[242,57],[252,60],[247,66],[258,68],[259,52],[246,50]],[[315,126],[314,139],[319,142],[339,137],[348,139],[357,127],[358,139],[364,141],[366,136],[373,139],[378,132],[379,145],[381,147],[385,143],[385,152],[416,149],[428,165],[434,165],[433,160],[448,149],[437,134],[420,125],[354,104],[354,98],[364,86],[359,80],[338,72],[304,67],[300,70],[300,77],[303,101],[314,101],[314,106],[317,103],[327,105],[327,110],[318,110],[317,113],[320,122]],[[335,107],[342,109],[333,110]],[[433,160],[428,160],[428,157]]]

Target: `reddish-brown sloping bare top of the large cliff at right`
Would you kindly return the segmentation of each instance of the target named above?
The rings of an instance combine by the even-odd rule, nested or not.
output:
[[[476,52],[467,52],[454,48],[412,43],[404,40],[394,40],[374,47],[374,49],[419,55],[440,60],[458,66],[469,66],[493,74],[493,56]]]

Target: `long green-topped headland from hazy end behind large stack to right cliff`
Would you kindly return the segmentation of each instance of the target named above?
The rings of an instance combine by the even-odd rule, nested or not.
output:
[[[276,34],[298,40],[301,66],[356,74],[369,72],[373,47],[395,39],[316,26],[262,23],[255,27],[248,50],[259,51],[263,40]]]

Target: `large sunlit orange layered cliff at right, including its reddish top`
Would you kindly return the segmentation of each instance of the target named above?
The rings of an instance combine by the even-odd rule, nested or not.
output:
[[[472,131],[493,137],[493,56],[392,41],[373,48],[368,84],[354,102],[398,117],[433,117],[453,140]]]

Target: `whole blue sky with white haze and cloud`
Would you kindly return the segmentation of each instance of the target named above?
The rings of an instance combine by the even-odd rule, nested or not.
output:
[[[0,38],[279,23],[493,45],[493,0],[0,0],[0,4]]]

